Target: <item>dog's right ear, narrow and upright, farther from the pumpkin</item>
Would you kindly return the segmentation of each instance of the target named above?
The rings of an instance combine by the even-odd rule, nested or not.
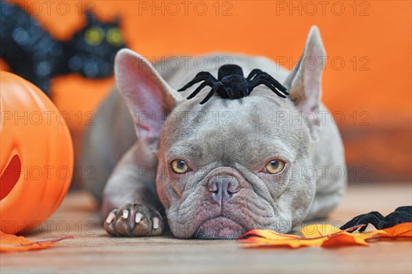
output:
[[[295,103],[298,110],[304,114],[313,112],[316,115],[316,121],[313,125],[321,125],[319,117],[319,103],[322,93],[322,72],[325,68],[326,53],[323,47],[321,34],[317,26],[310,28],[304,53],[298,64],[290,71],[284,82],[288,88],[290,99]],[[312,137],[316,139],[317,130],[310,127]]]

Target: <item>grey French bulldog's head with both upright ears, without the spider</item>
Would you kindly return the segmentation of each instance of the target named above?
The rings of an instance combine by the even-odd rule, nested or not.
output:
[[[308,58],[317,66],[308,69]],[[200,105],[207,91],[186,100],[144,58],[119,51],[117,86],[139,145],[157,155],[157,192],[175,236],[236,238],[258,228],[286,233],[306,217],[315,185],[296,173],[311,164],[319,125],[289,116],[317,113],[324,58],[312,27],[299,64],[283,83],[290,97],[262,85],[242,99],[215,95]]]

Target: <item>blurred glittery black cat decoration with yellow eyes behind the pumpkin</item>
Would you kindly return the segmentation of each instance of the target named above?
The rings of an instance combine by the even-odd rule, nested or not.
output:
[[[57,40],[19,5],[0,0],[0,58],[12,73],[47,95],[52,79],[59,75],[109,77],[117,51],[125,47],[119,20],[99,21],[91,12],[85,16],[82,29],[69,40]]]

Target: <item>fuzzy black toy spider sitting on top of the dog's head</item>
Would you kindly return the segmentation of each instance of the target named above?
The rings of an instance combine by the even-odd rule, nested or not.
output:
[[[249,76],[244,78],[242,68],[236,64],[225,64],[220,66],[218,79],[208,72],[201,71],[192,81],[177,91],[186,90],[202,81],[204,82],[187,97],[187,99],[192,99],[198,92],[205,88],[205,86],[210,86],[211,90],[205,99],[201,101],[201,105],[209,101],[216,92],[218,92],[218,95],[222,98],[238,99],[247,97],[253,88],[259,85],[267,86],[279,97],[286,98],[286,95],[289,95],[289,93],[286,92],[286,88],[277,82],[271,75],[268,75],[268,73],[265,73],[260,69],[253,69],[253,71],[249,73]]]

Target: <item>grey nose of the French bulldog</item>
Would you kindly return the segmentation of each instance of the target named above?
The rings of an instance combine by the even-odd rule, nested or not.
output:
[[[211,198],[214,201],[229,201],[240,190],[238,180],[231,175],[218,175],[209,179],[207,182]]]

